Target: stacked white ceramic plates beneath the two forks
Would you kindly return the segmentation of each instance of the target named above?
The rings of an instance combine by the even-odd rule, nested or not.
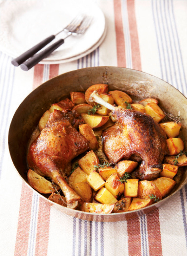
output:
[[[79,13],[93,17],[89,29],[84,35],[67,38],[62,46],[40,62],[43,64],[72,61],[98,47],[106,33],[103,12],[93,1],[2,1],[1,50],[15,58],[60,31]],[[63,36],[64,32],[51,43]]]

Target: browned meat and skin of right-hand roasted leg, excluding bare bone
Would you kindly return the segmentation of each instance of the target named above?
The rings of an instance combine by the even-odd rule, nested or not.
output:
[[[142,160],[136,177],[157,178],[164,155],[168,153],[164,131],[151,116],[139,111],[116,108],[113,116],[118,123],[103,132],[103,150],[109,162]]]

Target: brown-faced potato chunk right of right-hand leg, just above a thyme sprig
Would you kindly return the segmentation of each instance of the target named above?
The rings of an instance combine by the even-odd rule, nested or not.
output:
[[[177,155],[185,148],[180,138],[169,138],[166,140],[170,155]]]

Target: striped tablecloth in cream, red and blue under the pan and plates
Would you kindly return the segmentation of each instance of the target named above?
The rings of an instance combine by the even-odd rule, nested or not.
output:
[[[187,255],[187,185],[165,205],[139,218],[89,222],[58,212],[17,175],[8,129],[22,100],[44,81],[71,70],[119,66],[153,74],[187,96],[187,2],[98,1],[108,24],[94,52],[66,64],[38,64],[28,72],[1,53],[0,254]],[[28,106],[29,108],[29,106]]]

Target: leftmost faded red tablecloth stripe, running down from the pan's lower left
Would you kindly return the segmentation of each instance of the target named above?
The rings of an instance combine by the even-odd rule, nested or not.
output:
[[[15,256],[27,255],[31,221],[32,194],[33,192],[31,189],[28,188],[25,182],[23,182],[14,251]]]

